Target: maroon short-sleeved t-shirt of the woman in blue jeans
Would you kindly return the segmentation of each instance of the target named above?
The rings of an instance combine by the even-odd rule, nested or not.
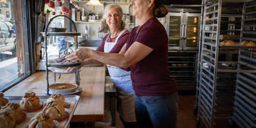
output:
[[[167,95],[176,92],[174,79],[169,76],[168,36],[164,26],[156,18],[149,18],[131,31],[126,50],[135,41],[153,49],[146,58],[130,66],[135,94]]]

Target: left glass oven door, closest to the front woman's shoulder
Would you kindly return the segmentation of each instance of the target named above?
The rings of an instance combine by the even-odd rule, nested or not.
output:
[[[169,16],[169,46],[180,46],[181,16]]]

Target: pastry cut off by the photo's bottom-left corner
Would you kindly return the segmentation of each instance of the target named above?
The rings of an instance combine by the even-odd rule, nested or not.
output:
[[[1,109],[0,110],[0,128],[14,128],[16,121],[11,114],[11,110]]]

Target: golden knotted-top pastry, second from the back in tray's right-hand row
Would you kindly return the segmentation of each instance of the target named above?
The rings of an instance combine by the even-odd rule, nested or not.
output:
[[[51,119],[57,119],[65,115],[63,105],[58,104],[56,101],[48,102],[46,107],[43,108],[43,111],[45,111]]]

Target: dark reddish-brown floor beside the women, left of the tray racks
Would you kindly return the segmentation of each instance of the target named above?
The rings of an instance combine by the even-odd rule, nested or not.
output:
[[[179,95],[178,102],[178,128],[196,128],[196,116],[193,114],[195,95]],[[124,128],[117,113],[117,128]]]

